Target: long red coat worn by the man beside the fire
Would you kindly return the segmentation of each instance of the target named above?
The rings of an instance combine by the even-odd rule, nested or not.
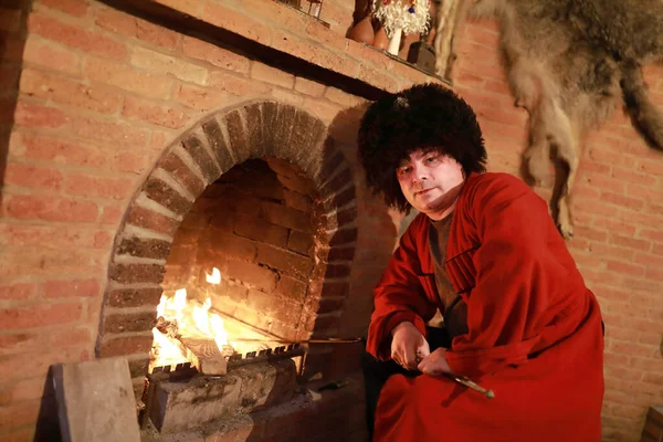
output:
[[[429,225],[423,214],[412,221],[375,290],[368,351],[380,359],[389,358],[396,324],[410,320],[425,334],[440,307]],[[599,305],[544,200],[509,175],[471,175],[446,256],[469,327],[453,339],[449,365],[495,399],[444,377],[392,376],[378,402],[375,440],[599,442]]]

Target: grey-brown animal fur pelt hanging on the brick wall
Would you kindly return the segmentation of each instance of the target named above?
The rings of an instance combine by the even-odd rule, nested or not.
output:
[[[551,209],[569,238],[570,189],[583,137],[620,98],[645,139],[663,148],[663,117],[648,97],[641,70],[663,55],[663,1],[454,1],[471,2],[460,14],[469,10],[498,20],[508,82],[516,105],[529,113],[526,166],[546,183],[555,161]]]

